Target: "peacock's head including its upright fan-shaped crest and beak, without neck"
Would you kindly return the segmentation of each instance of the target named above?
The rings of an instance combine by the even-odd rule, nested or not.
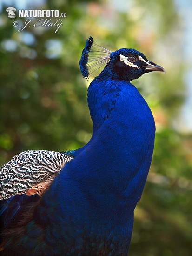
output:
[[[132,81],[142,74],[164,71],[164,68],[148,61],[146,56],[135,49],[122,48],[115,52],[96,45],[90,36],[79,61],[83,77],[88,78],[95,70],[105,66],[100,76]]]

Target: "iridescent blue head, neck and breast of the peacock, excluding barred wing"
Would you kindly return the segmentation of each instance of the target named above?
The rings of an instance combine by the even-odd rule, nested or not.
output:
[[[5,255],[127,256],[155,137],[152,112],[130,81],[162,71],[152,63],[133,49],[111,54],[88,88],[91,140],[73,152],[31,216],[12,230]]]

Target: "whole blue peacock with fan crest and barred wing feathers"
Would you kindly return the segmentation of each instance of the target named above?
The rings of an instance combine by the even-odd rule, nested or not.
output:
[[[26,151],[2,167],[1,255],[128,254],[155,138],[152,112],[130,81],[164,68],[132,48],[111,52],[91,36],[79,65],[87,79],[105,65],[88,88],[93,135],[82,148]]]

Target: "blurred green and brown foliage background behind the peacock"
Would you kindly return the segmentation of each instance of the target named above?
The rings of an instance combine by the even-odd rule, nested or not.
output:
[[[28,18],[8,18],[10,6],[58,9],[66,18],[56,34],[53,27],[18,32]],[[131,256],[192,255],[191,17],[190,0],[0,0],[0,164],[24,150],[76,149],[89,141],[86,90],[93,77],[86,81],[79,70],[89,35],[112,51],[136,48],[166,69],[132,81],[157,131]]]

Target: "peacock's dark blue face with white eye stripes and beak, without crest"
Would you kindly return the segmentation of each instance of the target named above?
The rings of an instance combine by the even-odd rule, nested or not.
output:
[[[164,71],[164,68],[148,61],[146,56],[135,49],[122,48],[111,53],[107,65],[112,69],[115,78],[132,81],[142,74],[152,71]]]

